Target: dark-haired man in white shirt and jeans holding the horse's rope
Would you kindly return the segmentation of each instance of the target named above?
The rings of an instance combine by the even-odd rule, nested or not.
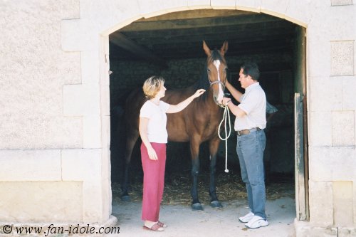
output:
[[[234,105],[231,99],[224,98],[227,105],[236,116],[234,129],[237,135],[236,152],[239,156],[241,177],[246,184],[248,214],[241,216],[239,221],[246,223],[248,228],[268,226],[265,204],[266,189],[263,174],[263,150],[266,146],[266,95],[258,83],[260,72],[255,63],[241,66],[239,82],[245,89],[242,94],[229,82],[226,88],[240,102]]]

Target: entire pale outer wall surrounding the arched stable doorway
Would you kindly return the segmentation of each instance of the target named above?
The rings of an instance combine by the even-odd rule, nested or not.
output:
[[[109,221],[108,35],[142,16],[205,8],[261,11],[307,28],[310,221],[297,219],[296,233],[355,236],[352,0],[1,2],[0,221]]]

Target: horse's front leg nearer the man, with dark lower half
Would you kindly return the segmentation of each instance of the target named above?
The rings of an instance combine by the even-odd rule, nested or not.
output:
[[[216,153],[219,149],[220,139],[216,137],[211,139],[209,142],[209,152],[210,152],[210,184],[209,184],[209,194],[210,194],[210,206],[212,207],[222,207],[218,197],[216,196]]]

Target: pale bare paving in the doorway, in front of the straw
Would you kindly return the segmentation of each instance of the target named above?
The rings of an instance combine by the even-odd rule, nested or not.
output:
[[[290,197],[267,201],[269,226],[258,229],[247,229],[238,220],[239,216],[248,212],[246,200],[222,202],[222,209],[204,206],[204,211],[192,211],[189,206],[164,205],[161,207],[160,219],[168,227],[163,232],[142,229],[140,202],[115,200],[112,203],[112,215],[117,217],[120,226],[120,234],[117,236],[295,236],[295,200]]]

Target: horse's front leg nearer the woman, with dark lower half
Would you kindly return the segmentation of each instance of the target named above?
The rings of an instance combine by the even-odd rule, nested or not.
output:
[[[198,175],[199,175],[199,146],[200,139],[191,139],[190,141],[190,152],[192,156],[192,179],[193,186],[190,194],[192,195],[192,209],[203,210],[203,206],[198,199]]]

